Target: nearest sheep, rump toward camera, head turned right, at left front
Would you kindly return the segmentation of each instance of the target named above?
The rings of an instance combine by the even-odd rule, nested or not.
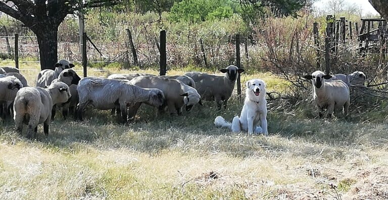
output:
[[[35,137],[38,124],[43,123],[44,135],[49,135],[53,105],[64,103],[70,97],[69,86],[61,82],[54,83],[49,88],[22,88],[17,93],[14,103],[17,131],[22,132],[23,124],[26,124],[27,138]]]

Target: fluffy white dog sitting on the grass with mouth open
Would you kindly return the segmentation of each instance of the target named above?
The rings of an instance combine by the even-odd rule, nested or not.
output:
[[[260,79],[252,79],[247,82],[246,96],[243,110],[240,117],[235,116],[232,123],[226,121],[223,117],[217,116],[214,124],[217,127],[227,127],[233,132],[241,130],[248,131],[248,134],[259,134],[263,132],[268,136],[267,129],[267,100],[265,99],[265,83]],[[260,126],[258,123],[260,122]]]

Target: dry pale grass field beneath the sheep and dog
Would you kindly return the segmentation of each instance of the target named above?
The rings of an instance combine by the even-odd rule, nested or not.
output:
[[[22,73],[34,85],[37,71]],[[242,81],[254,77],[265,80],[268,91],[286,87],[268,73]],[[388,198],[386,107],[353,106],[351,119],[327,120],[314,118],[307,101],[269,101],[269,137],[249,137],[214,127],[217,115],[231,120],[239,114],[235,96],[229,105],[217,111],[205,102],[181,117],[156,116],[142,106],[127,125],[109,111],[89,109],[83,122],[59,114],[49,137],[39,126],[33,141],[18,135],[12,120],[2,120],[0,198]]]

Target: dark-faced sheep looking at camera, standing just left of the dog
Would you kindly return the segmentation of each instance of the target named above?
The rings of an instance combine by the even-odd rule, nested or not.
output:
[[[221,69],[220,72],[225,73],[225,76],[209,75],[200,72],[189,72],[184,75],[192,78],[196,82],[196,89],[205,101],[216,101],[218,109],[221,109],[223,104],[226,108],[227,101],[232,95],[234,84],[243,69],[238,69],[234,65],[229,65],[226,69]]]

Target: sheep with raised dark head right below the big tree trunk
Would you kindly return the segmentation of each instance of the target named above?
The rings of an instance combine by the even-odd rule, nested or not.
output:
[[[73,67],[74,64],[69,63],[69,61],[65,59],[58,61],[55,64],[55,70],[46,69],[39,72],[36,78],[36,87],[48,87],[54,79],[58,78],[59,74],[61,74],[63,70]]]

